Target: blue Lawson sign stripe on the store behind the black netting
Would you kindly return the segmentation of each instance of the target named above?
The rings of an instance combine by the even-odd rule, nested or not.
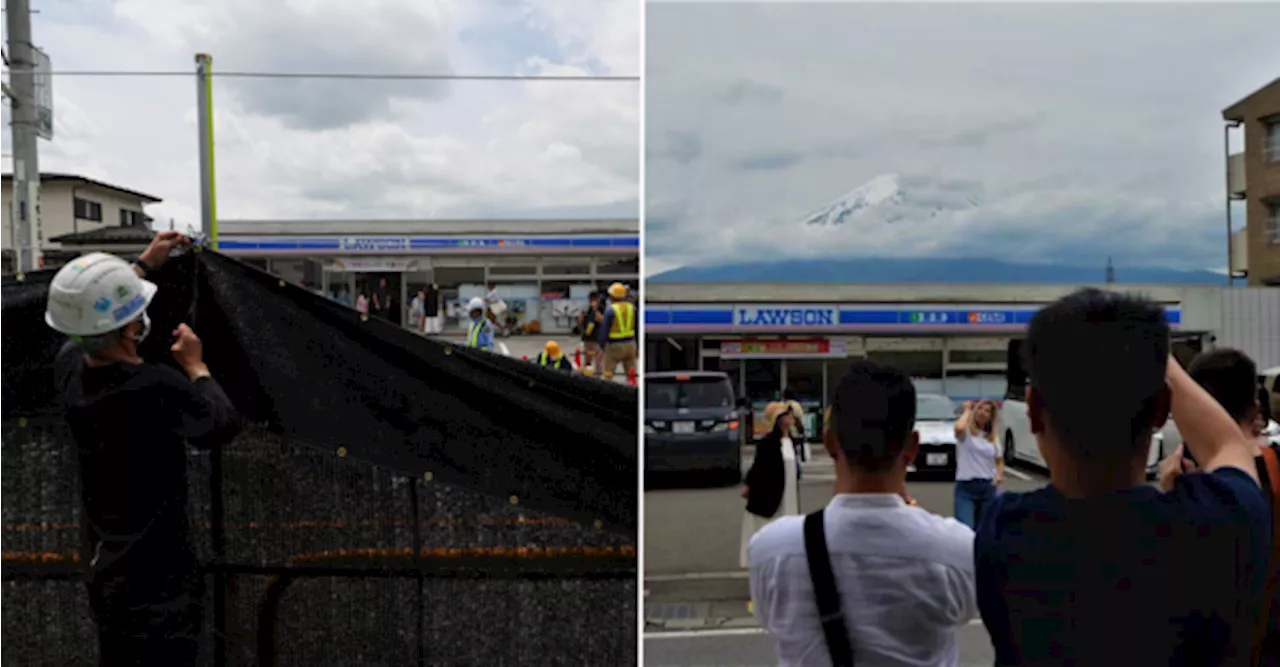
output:
[[[637,253],[640,236],[566,237],[253,237],[227,236],[218,247],[228,255],[349,255],[594,252]]]

